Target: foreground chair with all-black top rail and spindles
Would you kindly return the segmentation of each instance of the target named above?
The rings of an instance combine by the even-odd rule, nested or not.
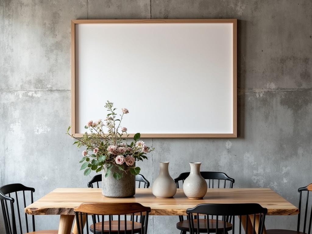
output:
[[[226,220],[229,217],[233,220],[233,228],[232,234],[235,234],[235,216],[239,216],[240,220],[242,220],[243,216],[246,216],[246,225],[243,226],[245,229],[245,233],[248,233],[248,229],[252,228],[252,232],[250,233],[258,233],[262,234],[264,229],[264,221],[267,213],[267,209],[261,207],[256,203],[244,203],[244,204],[199,204],[194,208],[190,208],[186,210],[188,214],[188,222],[189,222],[189,232],[190,234],[195,233],[227,233],[226,228]],[[258,230],[256,230],[255,220],[256,215],[260,214],[259,217],[259,226]],[[204,219],[202,227],[200,227],[200,223],[197,222],[199,219],[199,215],[206,215],[207,219]],[[253,225],[248,226],[249,215],[254,216]],[[216,216],[217,220],[219,217],[222,217],[222,227],[216,223],[215,227],[211,227],[211,222],[209,216]],[[243,225],[241,222],[239,225],[239,234],[241,234],[241,226]],[[199,230],[199,232],[198,232]],[[250,229],[249,229],[250,230]]]

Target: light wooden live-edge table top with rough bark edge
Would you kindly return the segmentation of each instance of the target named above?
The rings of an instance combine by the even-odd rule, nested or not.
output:
[[[57,188],[25,208],[33,215],[74,215],[83,202],[139,202],[151,207],[150,215],[185,215],[187,208],[202,203],[259,203],[268,215],[295,215],[297,207],[270,188],[211,188],[201,200],[188,199],[178,188],[172,198],[156,198],[150,188],[137,188],[134,197],[107,198],[99,188]]]

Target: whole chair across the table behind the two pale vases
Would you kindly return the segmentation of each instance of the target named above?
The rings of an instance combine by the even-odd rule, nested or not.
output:
[[[184,172],[181,173],[177,178],[174,179],[174,182],[177,185],[177,188],[179,188],[179,181],[182,181],[182,183],[184,183],[184,180],[189,176],[189,172]],[[207,185],[208,188],[220,188],[220,182],[221,182],[221,188],[233,188],[233,184],[235,182],[235,180],[231,177],[228,177],[227,174],[223,173],[223,172],[200,172],[200,174],[202,175],[202,177],[205,180],[208,180]],[[206,217],[205,217],[206,218]],[[184,220],[183,216],[179,216],[179,220],[180,222],[177,223],[177,229],[181,231],[181,234],[185,234],[186,232],[188,232],[189,227],[188,227],[188,220]],[[211,227],[211,232],[215,233],[215,229],[213,229],[212,227],[220,227],[222,228],[223,226],[223,222],[222,220],[218,221],[216,219],[210,219],[210,227]],[[199,220],[199,226],[204,228],[204,220],[200,219]],[[226,230],[230,231],[232,229],[232,224],[231,224],[231,219],[229,220],[229,222],[226,222]]]

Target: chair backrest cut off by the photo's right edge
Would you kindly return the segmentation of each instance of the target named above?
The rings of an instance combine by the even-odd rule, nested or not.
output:
[[[312,223],[312,205],[310,204],[309,206],[309,192],[312,191],[312,183],[309,184],[306,187],[303,188],[299,188],[298,192],[300,193],[300,197],[299,197],[299,215],[298,215],[298,225],[297,225],[297,232],[300,232],[300,219],[301,219],[301,215],[302,213],[304,213],[304,220],[303,220],[303,230],[302,232],[310,234],[311,232],[311,223]],[[302,212],[301,206],[302,206],[302,193],[306,193],[306,201],[305,201],[305,207],[304,207],[304,212]],[[308,210],[310,208],[310,219],[309,219],[309,227],[308,227],[308,232],[305,232],[306,227],[307,227],[307,216],[308,216]]]

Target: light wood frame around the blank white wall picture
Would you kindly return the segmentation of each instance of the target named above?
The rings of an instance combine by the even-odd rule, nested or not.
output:
[[[233,24],[233,133],[229,134],[141,134],[141,138],[236,138],[237,137],[237,19],[105,19],[105,20],[71,20],[71,134],[82,137],[76,133],[75,108],[75,25],[101,23],[232,23]],[[133,137],[130,134],[129,137]]]

